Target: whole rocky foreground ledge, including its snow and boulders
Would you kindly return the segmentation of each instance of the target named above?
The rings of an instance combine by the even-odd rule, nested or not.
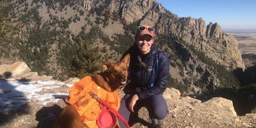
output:
[[[14,68],[11,69],[13,70]],[[24,73],[24,70],[21,70],[20,73],[23,73],[22,76],[31,74],[29,71],[26,72]],[[17,70],[13,70],[12,73],[19,74]],[[0,128],[51,128],[55,119],[66,106],[65,98],[68,95],[70,86],[78,79],[70,79],[64,83],[49,80],[47,76],[40,77],[35,74],[32,76],[27,75],[26,78],[17,76],[14,77],[15,79],[6,79],[6,76],[0,76]],[[14,92],[19,89],[16,86],[17,83],[24,85],[21,87],[30,86],[29,88],[35,87],[37,89],[40,88],[40,90],[35,91],[35,94],[32,91],[27,91],[23,95],[21,95],[22,93],[8,95],[15,94]],[[6,88],[6,85],[14,87]],[[30,95],[31,93],[33,95]],[[44,98],[45,94],[51,94],[51,98],[49,96]],[[120,91],[120,97],[123,95],[122,91]],[[4,105],[8,102],[5,96],[12,99],[12,101],[14,99],[25,101],[25,104],[18,109],[9,109],[19,102],[11,102],[9,105]],[[256,128],[256,113],[236,116],[230,100],[214,98],[208,102],[201,103],[197,99],[180,97],[178,90],[173,88],[167,89],[164,97],[169,107],[169,114],[166,119],[162,120],[163,128]],[[131,128],[151,127],[148,112],[145,108],[139,111],[139,117],[137,123]]]

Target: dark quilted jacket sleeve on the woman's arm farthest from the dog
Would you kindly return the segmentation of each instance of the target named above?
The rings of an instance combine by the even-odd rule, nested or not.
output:
[[[158,73],[157,78],[153,87],[147,88],[145,90],[137,93],[139,99],[145,99],[152,95],[163,94],[166,90],[167,82],[169,78],[169,59],[164,54],[164,52],[159,52],[158,57]]]

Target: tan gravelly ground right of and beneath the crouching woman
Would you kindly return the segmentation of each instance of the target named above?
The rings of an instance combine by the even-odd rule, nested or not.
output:
[[[209,107],[200,100],[184,97],[167,100],[170,113],[162,120],[163,128],[255,128],[256,114],[233,116],[218,107]],[[134,128],[150,127],[145,108],[140,112],[140,123]]]

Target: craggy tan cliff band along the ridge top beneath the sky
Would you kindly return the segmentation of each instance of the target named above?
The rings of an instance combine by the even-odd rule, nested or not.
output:
[[[244,69],[238,42],[222,32],[218,23],[207,25],[202,18],[177,17],[156,0],[112,0],[109,6],[111,11],[118,10],[119,17],[127,24],[139,22],[154,26],[157,34],[177,37],[230,70]]]

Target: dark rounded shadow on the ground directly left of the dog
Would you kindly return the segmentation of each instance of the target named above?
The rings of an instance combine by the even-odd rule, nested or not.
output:
[[[63,108],[58,105],[50,107],[43,107],[36,113],[36,120],[38,121],[37,128],[52,128],[55,119],[61,113]]]

